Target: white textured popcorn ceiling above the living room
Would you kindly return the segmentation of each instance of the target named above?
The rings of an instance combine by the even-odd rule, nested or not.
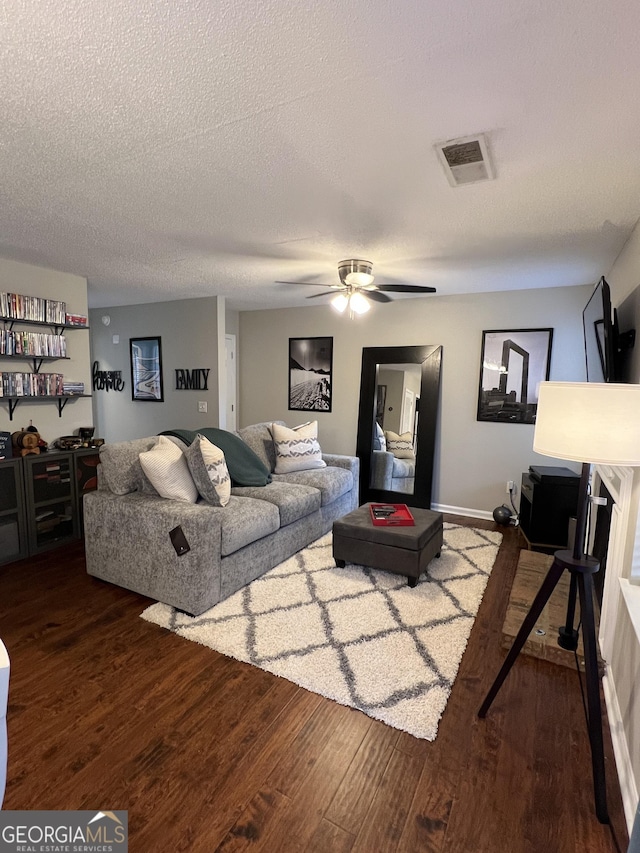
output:
[[[345,257],[594,282],[640,216],[639,31],[637,0],[4,0],[0,255],[94,307],[317,305],[275,280]],[[497,177],[452,188],[434,143],[479,132]]]

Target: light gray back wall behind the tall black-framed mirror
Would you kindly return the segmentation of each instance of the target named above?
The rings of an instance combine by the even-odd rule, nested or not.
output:
[[[240,425],[307,420],[287,407],[290,337],[333,337],[333,408],[314,413],[328,452],[355,452],[362,348],[441,344],[442,392],[434,503],[491,513],[529,465],[552,464],[532,450],[533,426],[476,420],[482,331],[554,328],[551,379],[584,380],[582,309],[592,287],[429,296],[374,304],[349,320],[330,306],[240,314]]]

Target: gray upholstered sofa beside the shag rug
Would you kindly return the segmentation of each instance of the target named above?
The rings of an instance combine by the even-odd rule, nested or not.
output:
[[[269,425],[237,435],[273,472]],[[138,458],[156,440],[101,448],[99,488],[84,497],[87,571],[186,613],[208,610],[358,506],[359,460],[335,454],[323,454],[326,468],[273,473],[266,486],[233,486],[225,507],[168,500],[146,480]],[[181,556],[169,536],[176,527],[190,547]]]

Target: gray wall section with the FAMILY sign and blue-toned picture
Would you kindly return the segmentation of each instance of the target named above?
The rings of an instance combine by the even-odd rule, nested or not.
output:
[[[113,442],[218,425],[218,307],[219,300],[211,297],[90,312],[92,360],[100,370],[120,370],[125,382],[122,392],[93,392],[96,435]],[[108,326],[102,323],[105,315],[111,318]],[[161,338],[162,403],[131,399],[129,339],[151,336]],[[177,390],[177,368],[209,368],[208,390]],[[207,414],[198,412],[200,401],[207,403]]]

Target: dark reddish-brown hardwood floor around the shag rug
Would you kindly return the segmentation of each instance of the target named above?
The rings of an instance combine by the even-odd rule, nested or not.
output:
[[[448,520],[494,528],[492,523]],[[127,809],[147,851],[610,853],[575,671],[521,655],[485,720],[522,541],[505,534],[433,743],[139,618],[82,546],[0,567],[7,809]]]

